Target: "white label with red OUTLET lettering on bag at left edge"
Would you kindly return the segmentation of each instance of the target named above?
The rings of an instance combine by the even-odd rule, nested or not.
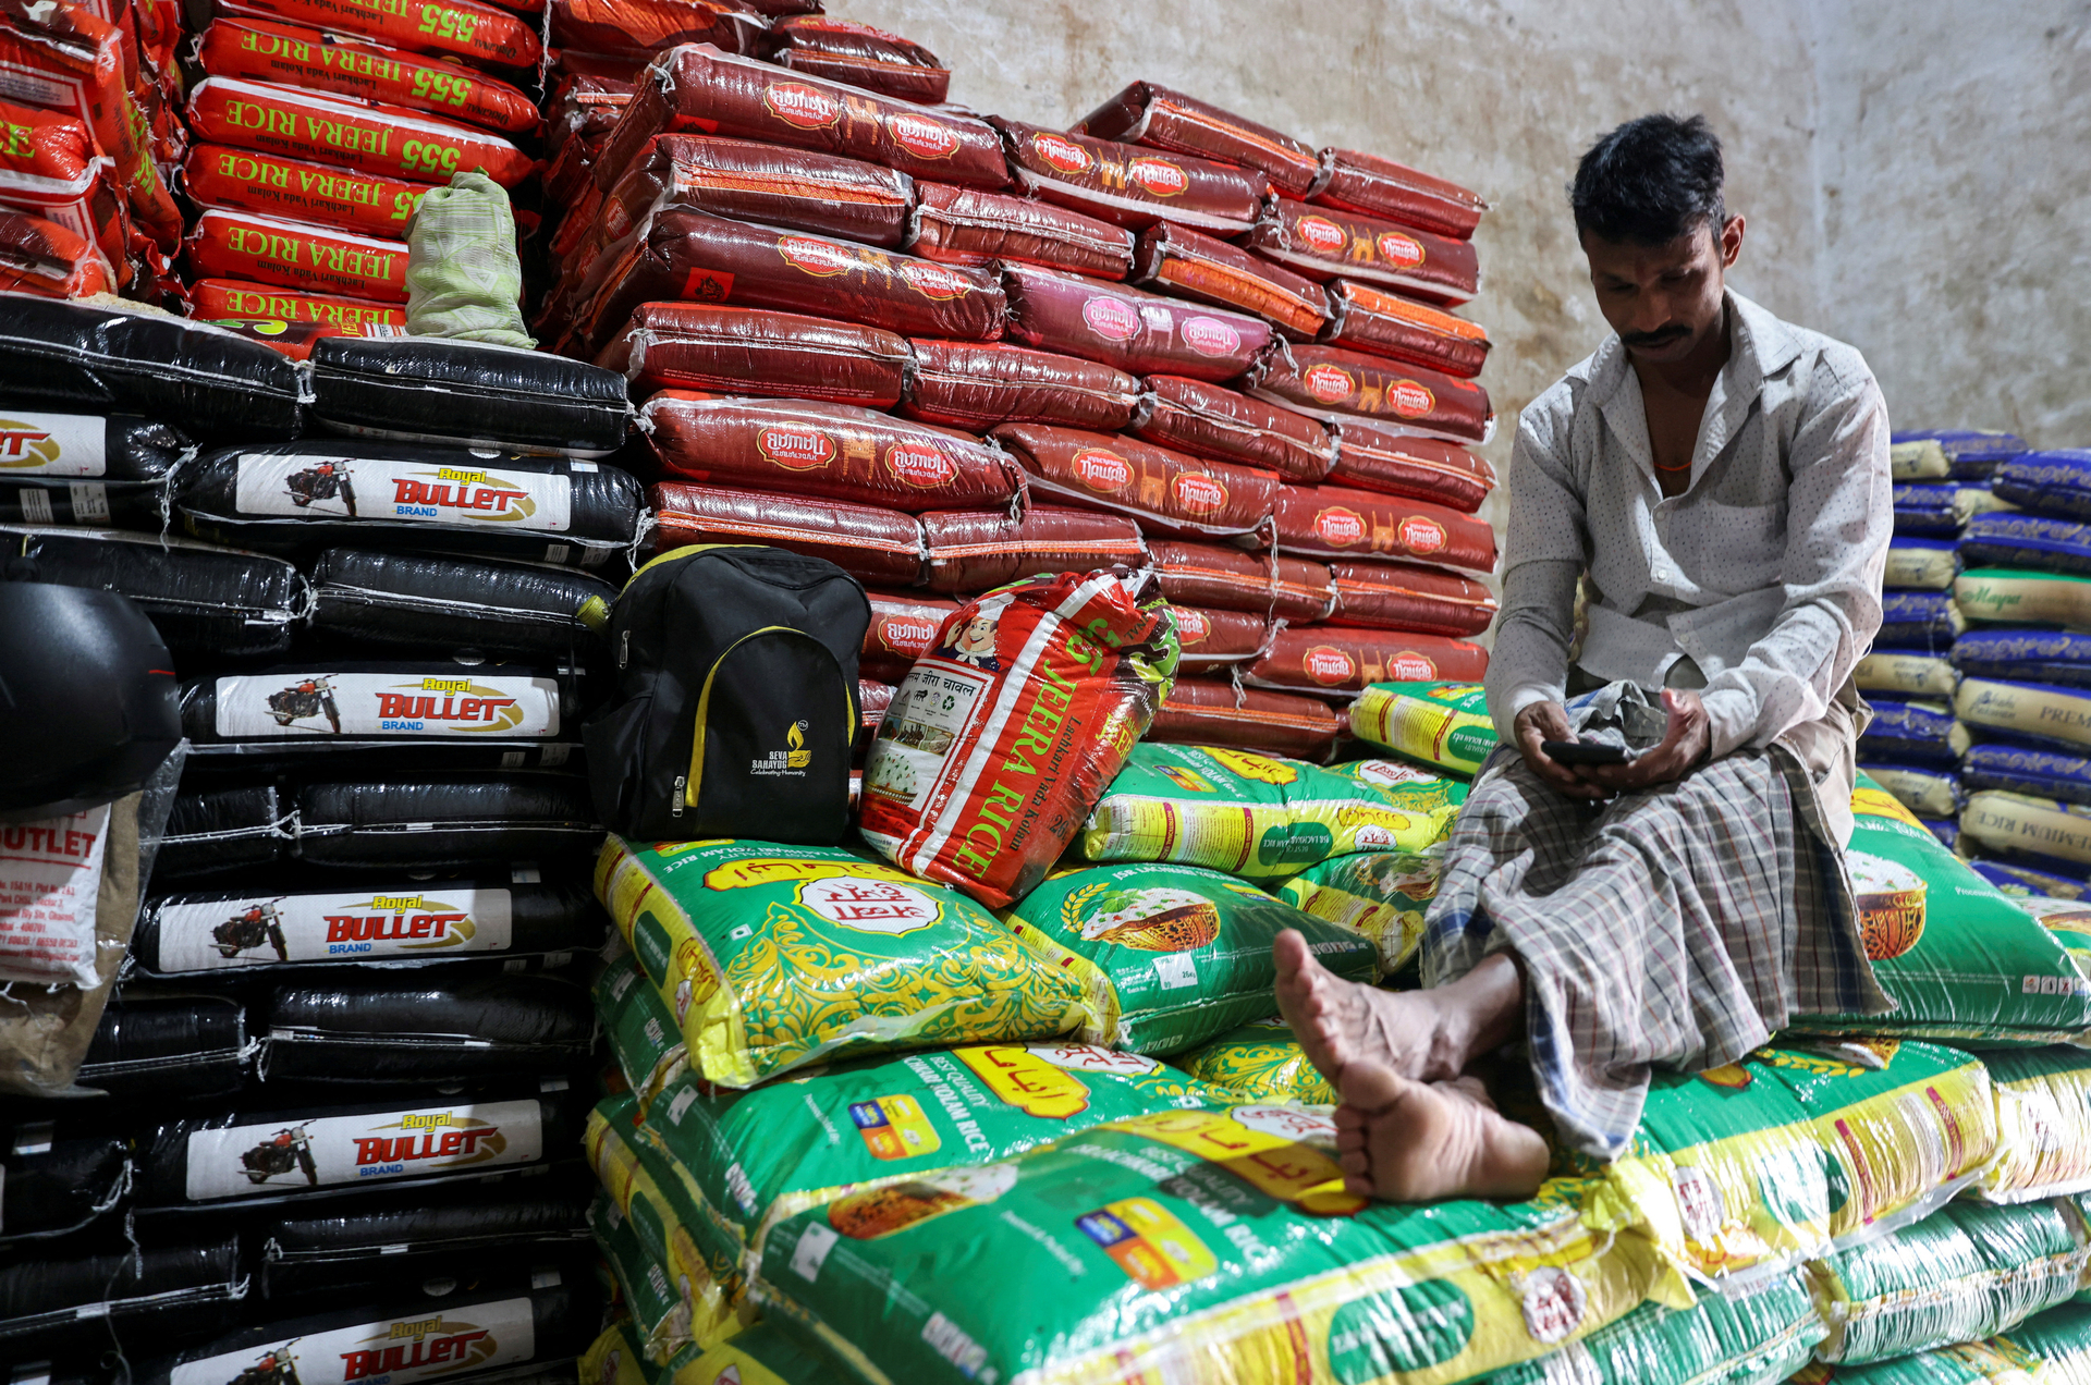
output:
[[[109,805],[0,824],[0,981],[94,985]]]

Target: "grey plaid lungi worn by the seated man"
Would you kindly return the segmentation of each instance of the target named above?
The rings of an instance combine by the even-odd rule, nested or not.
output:
[[[1631,734],[1631,684],[1570,703],[1587,741]],[[1639,716],[1646,720],[1646,713]],[[1654,1067],[1733,1063],[1792,1015],[1878,1015],[1844,858],[1786,745],[1608,803],[1570,799],[1516,747],[1474,778],[1424,923],[1422,979],[1522,962],[1539,1098],[1572,1149],[1612,1159]]]

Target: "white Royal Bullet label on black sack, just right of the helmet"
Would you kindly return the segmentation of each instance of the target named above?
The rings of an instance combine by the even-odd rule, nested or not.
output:
[[[234,674],[215,730],[255,736],[554,736],[558,684],[521,674]]]

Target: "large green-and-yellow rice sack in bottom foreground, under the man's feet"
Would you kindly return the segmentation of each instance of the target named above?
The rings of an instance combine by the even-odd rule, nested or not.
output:
[[[1644,1301],[1648,1243],[1585,1230],[1575,1184],[1370,1203],[1332,1136],[1301,1107],[1171,1111],[836,1199],[769,1232],[763,1303],[872,1385],[1453,1385]]]

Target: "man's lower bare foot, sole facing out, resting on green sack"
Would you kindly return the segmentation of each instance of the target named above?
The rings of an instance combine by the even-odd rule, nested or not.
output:
[[[1547,1176],[1547,1144],[1503,1119],[1474,1077],[1411,1082],[1384,1067],[1345,1069],[1336,1107],[1342,1186],[1388,1203],[1520,1199]]]

